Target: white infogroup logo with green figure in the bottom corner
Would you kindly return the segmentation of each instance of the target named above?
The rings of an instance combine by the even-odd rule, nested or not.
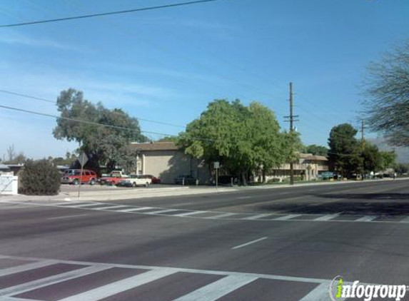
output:
[[[365,301],[375,299],[402,300],[408,291],[407,285],[371,285],[354,282],[344,282],[343,277],[337,276],[330,282],[329,294],[333,301],[344,300],[345,298],[358,298]],[[348,299],[349,300],[349,299]]]

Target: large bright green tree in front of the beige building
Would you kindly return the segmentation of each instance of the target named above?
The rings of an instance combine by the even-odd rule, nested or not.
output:
[[[290,156],[283,147],[286,138],[274,113],[260,103],[243,106],[238,100],[216,100],[188,124],[178,144],[187,154],[207,163],[219,161],[246,184],[249,173],[266,172],[285,162]]]

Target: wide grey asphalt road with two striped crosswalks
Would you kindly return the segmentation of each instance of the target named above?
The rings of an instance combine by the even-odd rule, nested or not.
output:
[[[408,184],[0,198],[0,300],[320,301],[338,275],[409,285]]]

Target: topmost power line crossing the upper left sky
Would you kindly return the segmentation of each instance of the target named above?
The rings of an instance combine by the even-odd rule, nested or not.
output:
[[[29,21],[29,22],[24,22],[24,23],[4,24],[4,25],[0,25],[0,28],[25,26],[25,25],[33,25],[33,24],[43,24],[43,23],[60,22],[60,21],[69,21],[69,20],[76,20],[76,19],[86,19],[86,18],[94,18],[98,16],[111,16],[111,15],[116,15],[116,14],[130,14],[130,13],[134,13],[137,11],[151,11],[154,9],[168,9],[168,8],[176,7],[176,6],[186,6],[186,5],[201,4],[205,2],[214,2],[214,1],[221,1],[221,0],[188,1],[188,2],[165,4],[165,5],[159,5],[159,6],[148,6],[148,7],[142,7],[140,9],[127,9],[125,11],[108,11],[106,13],[101,13],[101,14],[88,14],[88,15],[81,15],[81,16],[69,16],[69,17],[58,18],[58,19],[46,19],[46,20],[39,20],[39,21]]]

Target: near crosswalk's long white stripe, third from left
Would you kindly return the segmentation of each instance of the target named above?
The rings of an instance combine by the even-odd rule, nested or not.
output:
[[[88,292],[81,292],[77,295],[66,297],[59,301],[97,301],[103,298],[111,297],[112,295],[116,295],[126,290],[131,290],[134,287],[144,285],[148,282],[158,280],[168,275],[172,275],[173,273],[175,273],[173,269],[167,268],[151,270],[149,272],[144,272],[143,274],[119,280],[108,285],[103,285],[94,290],[89,290]]]

